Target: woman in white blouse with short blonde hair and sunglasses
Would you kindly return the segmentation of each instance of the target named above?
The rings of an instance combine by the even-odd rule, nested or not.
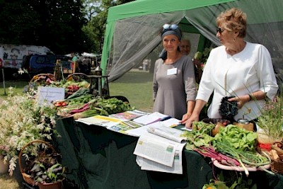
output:
[[[238,114],[234,120],[245,118],[253,122],[260,116],[260,107],[265,99],[272,100],[278,86],[272,67],[270,52],[263,45],[245,41],[247,18],[238,8],[226,10],[216,18],[216,36],[221,46],[210,52],[204,67],[197,92],[195,108],[185,123],[187,128],[198,121],[200,112],[214,93],[207,115],[221,118],[219,105],[226,96],[235,96]]]

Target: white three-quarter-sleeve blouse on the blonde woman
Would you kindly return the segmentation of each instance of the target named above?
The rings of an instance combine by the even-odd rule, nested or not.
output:
[[[272,99],[277,94],[278,85],[272,66],[270,52],[260,44],[246,42],[246,47],[236,55],[228,55],[222,45],[210,52],[204,67],[197,98],[208,101],[214,92],[212,104],[208,110],[209,118],[221,118],[219,105],[224,96],[243,96],[261,90]],[[238,110],[234,120],[258,118],[264,100],[250,101]]]

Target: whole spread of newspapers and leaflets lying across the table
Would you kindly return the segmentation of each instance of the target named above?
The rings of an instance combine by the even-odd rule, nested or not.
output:
[[[141,170],[183,173],[182,151],[186,138],[181,137],[183,130],[173,128],[180,124],[178,119],[161,113],[141,115],[127,111],[112,116],[79,118],[76,121],[139,137],[134,154]]]

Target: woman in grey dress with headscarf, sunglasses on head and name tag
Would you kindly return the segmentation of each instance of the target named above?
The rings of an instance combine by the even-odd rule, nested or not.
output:
[[[192,59],[180,53],[178,25],[165,24],[161,32],[163,58],[156,60],[153,79],[154,112],[187,120],[195,105],[195,74]]]

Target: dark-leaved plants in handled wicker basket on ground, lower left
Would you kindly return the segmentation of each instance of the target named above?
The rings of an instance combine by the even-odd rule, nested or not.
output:
[[[41,143],[42,145],[31,145]],[[36,150],[36,151],[34,151]],[[23,147],[23,151],[33,151],[25,162],[25,168],[20,163],[21,173],[24,180],[30,185],[38,185],[40,189],[44,188],[62,188],[62,181],[65,179],[66,167],[62,166],[61,155],[57,153],[49,142],[35,140],[29,142]]]

